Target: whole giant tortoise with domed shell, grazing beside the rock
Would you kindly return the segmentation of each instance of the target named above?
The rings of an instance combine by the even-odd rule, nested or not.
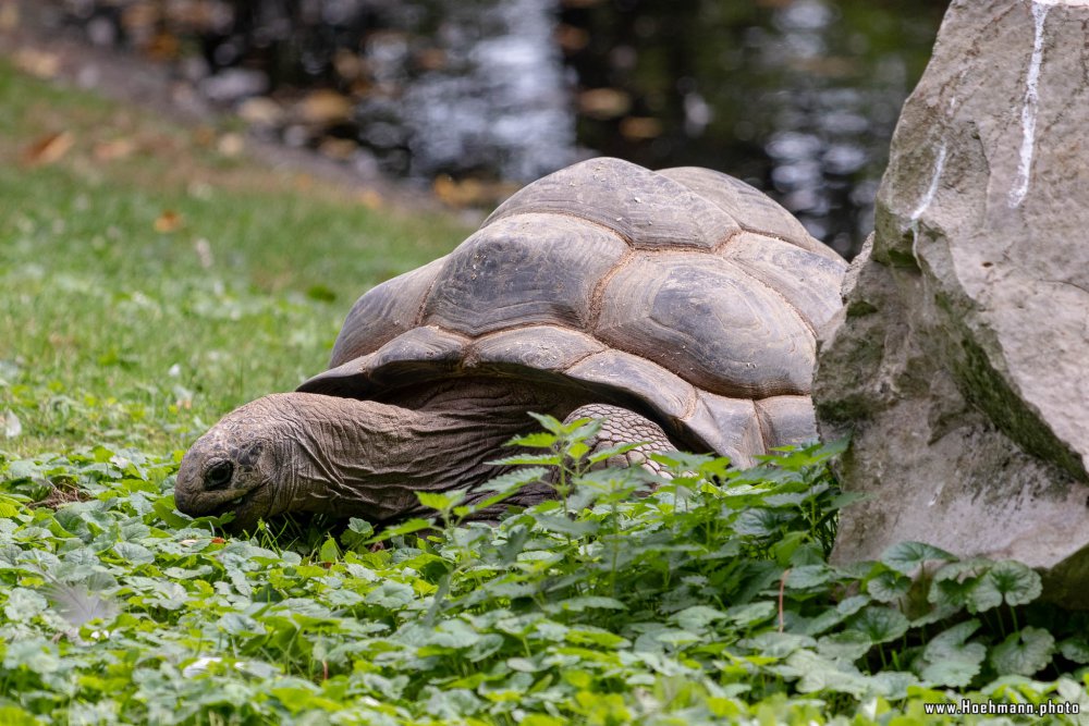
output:
[[[575,164],[360,297],[329,370],[193,445],[176,505],[233,510],[235,529],[285,512],[389,522],[425,510],[418,491],[472,499],[529,411],[605,414],[602,441],[748,465],[816,436],[816,330],[845,267],[725,174]]]

